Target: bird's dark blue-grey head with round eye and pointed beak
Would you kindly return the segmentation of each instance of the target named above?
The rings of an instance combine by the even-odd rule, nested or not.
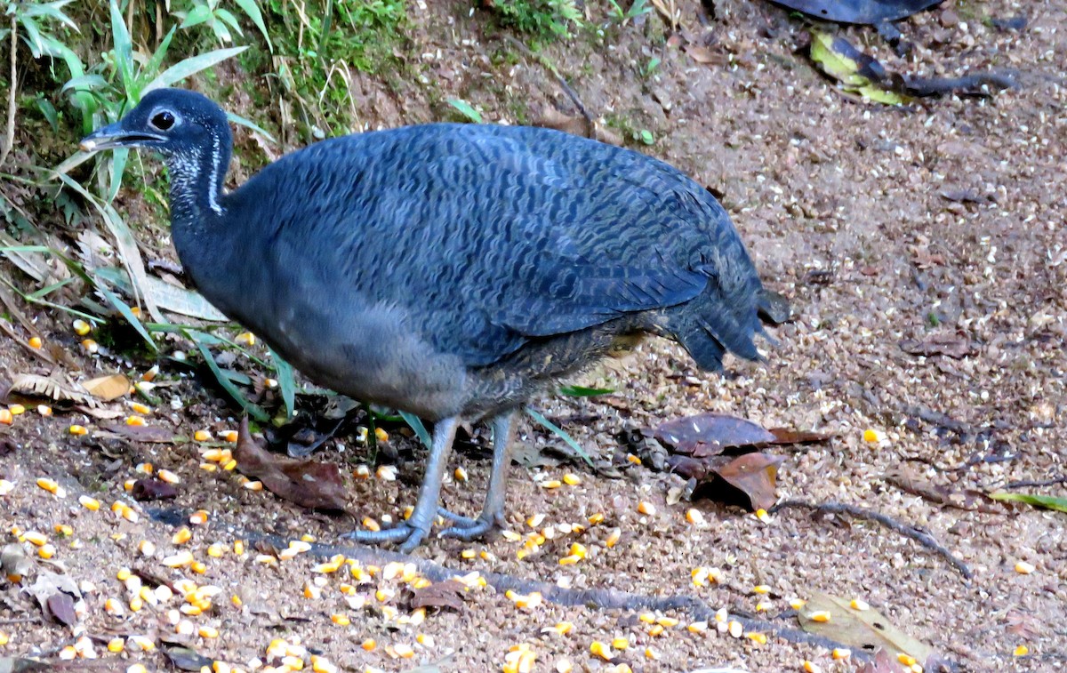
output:
[[[82,139],[85,151],[150,147],[173,156],[229,141],[226,113],[209,98],[184,89],[157,89],[114,124]],[[227,147],[228,149],[228,147]]]

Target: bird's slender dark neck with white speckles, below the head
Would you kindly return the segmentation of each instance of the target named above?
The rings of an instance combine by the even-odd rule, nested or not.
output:
[[[209,142],[166,158],[171,174],[171,221],[176,225],[204,226],[225,214],[222,185],[229,167],[233,139],[229,128],[208,129],[207,135]]]

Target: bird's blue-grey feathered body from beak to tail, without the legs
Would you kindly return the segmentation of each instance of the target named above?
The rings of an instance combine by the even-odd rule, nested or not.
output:
[[[230,144],[224,113],[177,90],[85,141],[162,151],[196,287],[321,385],[476,420],[642,333],[707,370],[759,356],[745,246],[666,163],[550,129],[433,124],[322,141],[223,193]]]

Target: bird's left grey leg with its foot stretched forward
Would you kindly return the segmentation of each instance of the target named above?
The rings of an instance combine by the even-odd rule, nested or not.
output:
[[[423,485],[418,490],[418,501],[411,517],[396,528],[384,530],[353,530],[343,538],[377,544],[380,542],[400,542],[400,551],[409,554],[418,546],[430,532],[430,526],[437,515],[437,502],[441,500],[441,482],[445,477],[445,466],[448,464],[448,453],[456,436],[457,417],[445,418],[433,426],[433,446],[430,447],[430,458],[426,463],[426,474]]]

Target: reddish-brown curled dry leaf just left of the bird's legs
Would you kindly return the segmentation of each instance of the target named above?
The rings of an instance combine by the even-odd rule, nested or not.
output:
[[[280,498],[313,510],[344,510],[348,502],[345,482],[332,463],[291,459],[265,451],[249,433],[242,418],[234,447],[237,469],[258,479]]]

